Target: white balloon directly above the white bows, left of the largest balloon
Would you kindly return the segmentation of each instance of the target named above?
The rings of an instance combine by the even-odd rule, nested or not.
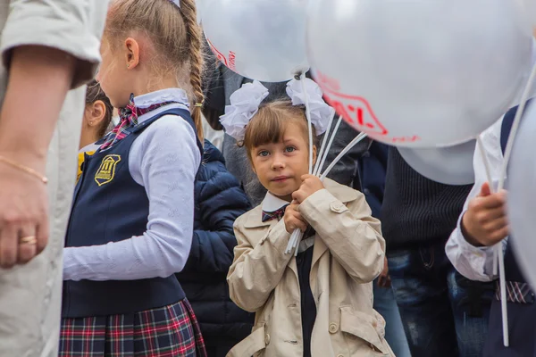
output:
[[[306,0],[213,0],[203,28],[214,54],[241,76],[281,82],[309,69]]]

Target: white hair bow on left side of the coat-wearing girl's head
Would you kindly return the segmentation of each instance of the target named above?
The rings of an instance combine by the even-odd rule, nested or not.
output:
[[[225,132],[237,141],[244,140],[249,120],[259,111],[259,105],[268,94],[268,89],[254,80],[230,95],[230,105],[225,106],[225,114],[220,117]]]

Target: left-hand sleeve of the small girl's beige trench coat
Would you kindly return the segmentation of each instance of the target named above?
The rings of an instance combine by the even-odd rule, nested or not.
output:
[[[281,220],[254,247],[237,220],[235,236],[238,245],[227,276],[230,299],[243,310],[255,312],[266,303],[294,256],[285,254],[290,235]]]

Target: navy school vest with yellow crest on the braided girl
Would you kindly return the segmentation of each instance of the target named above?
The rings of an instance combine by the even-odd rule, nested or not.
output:
[[[177,115],[177,120],[186,120],[197,132],[187,110],[170,109],[130,128],[130,134],[108,150],[86,155],[75,187],[66,247],[105,245],[141,236],[146,231],[149,201],[145,187],[130,176],[130,146],[155,120],[169,114]],[[197,146],[203,154],[199,140]],[[139,280],[64,280],[62,317],[146,311],[176,303],[184,297],[174,275]]]

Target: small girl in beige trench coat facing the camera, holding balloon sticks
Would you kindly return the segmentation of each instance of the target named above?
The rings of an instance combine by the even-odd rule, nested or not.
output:
[[[306,80],[312,121],[322,128],[330,110],[322,114],[322,94]],[[255,326],[230,356],[392,355],[385,322],[373,310],[372,281],[385,248],[380,221],[360,192],[307,175],[306,115],[292,104],[303,103],[299,90],[290,81],[292,102],[259,108],[267,90],[247,84],[231,95],[222,117],[269,191],[235,222],[239,245],[228,275],[230,297],[255,311]],[[316,145],[313,154],[316,159]],[[297,258],[285,253],[296,228],[305,232]]]

